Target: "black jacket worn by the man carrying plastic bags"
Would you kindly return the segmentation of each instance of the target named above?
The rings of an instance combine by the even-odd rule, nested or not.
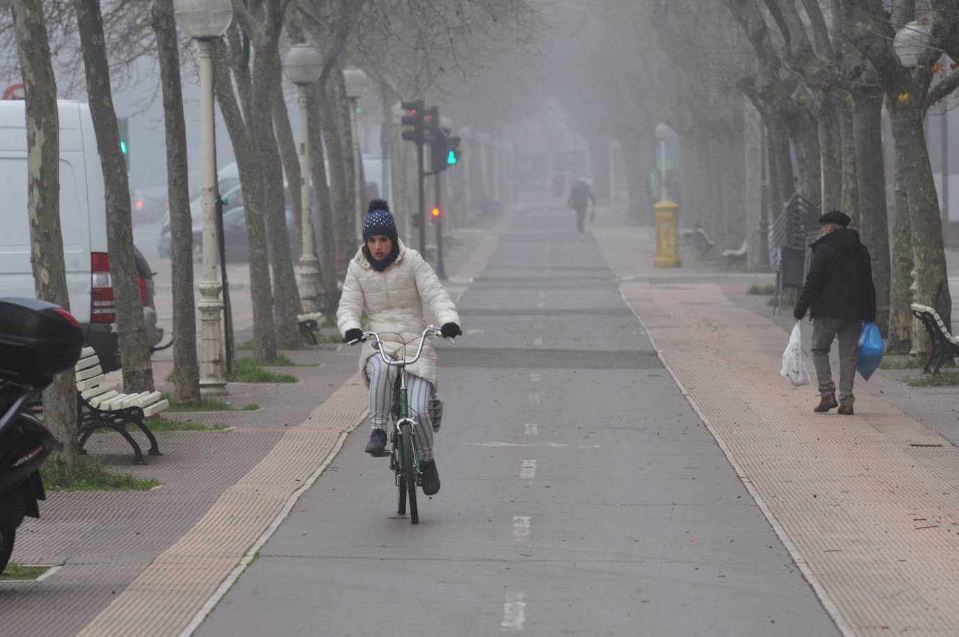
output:
[[[836,228],[812,243],[812,263],[792,315],[876,321],[876,286],[869,249],[859,233]]]

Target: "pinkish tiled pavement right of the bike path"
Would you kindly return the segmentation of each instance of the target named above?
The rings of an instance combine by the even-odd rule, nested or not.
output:
[[[779,376],[788,312],[782,325],[769,320],[743,298],[749,282],[649,267],[643,229],[595,236],[633,280],[623,298],[840,630],[957,634],[959,451],[931,428],[955,435],[951,406],[930,407],[928,394],[880,373],[868,387],[857,378],[856,416],[815,416],[814,391]]]

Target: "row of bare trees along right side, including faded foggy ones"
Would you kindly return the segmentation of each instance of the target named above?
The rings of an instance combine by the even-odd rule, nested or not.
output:
[[[687,223],[701,218],[723,247],[746,239],[757,252],[765,163],[772,216],[800,192],[853,218],[873,254],[890,351],[910,347],[913,270],[920,301],[949,322],[924,117],[959,86],[949,57],[959,54],[959,2],[597,0],[590,17],[563,62],[568,88],[553,93],[587,139],[620,141],[634,211],[648,201],[649,149],[665,122],[680,136]],[[909,23],[931,37],[918,63],[903,65],[893,43]],[[576,89],[598,67],[601,98],[584,102]],[[883,126],[892,153],[883,152]],[[887,202],[889,155],[895,198]]]

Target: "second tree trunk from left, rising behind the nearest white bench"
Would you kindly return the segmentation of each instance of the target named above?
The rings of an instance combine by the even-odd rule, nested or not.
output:
[[[120,150],[113,95],[110,90],[109,64],[104,45],[104,20],[100,0],[74,0],[77,28],[86,70],[86,93],[90,115],[100,151],[106,194],[106,241],[110,257],[110,276],[116,297],[117,324],[120,326],[120,350],[123,358],[124,389],[127,392],[152,392],[153,368],[143,300],[133,260],[133,225],[129,207],[127,164]]]

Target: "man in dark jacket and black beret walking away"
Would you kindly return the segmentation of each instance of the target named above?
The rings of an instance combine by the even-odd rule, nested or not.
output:
[[[799,323],[809,310],[812,318],[812,363],[819,383],[817,414],[839,407],[853,414],[856,346],[862,322],[876,321],[876,286],[869,249],[859,233],[846,226],[849,216],[833,210],[819,217],[823,236],[810,246],[812,264],[793,318]],[[839,337],[839,401],[830,369],[830,348]]]

